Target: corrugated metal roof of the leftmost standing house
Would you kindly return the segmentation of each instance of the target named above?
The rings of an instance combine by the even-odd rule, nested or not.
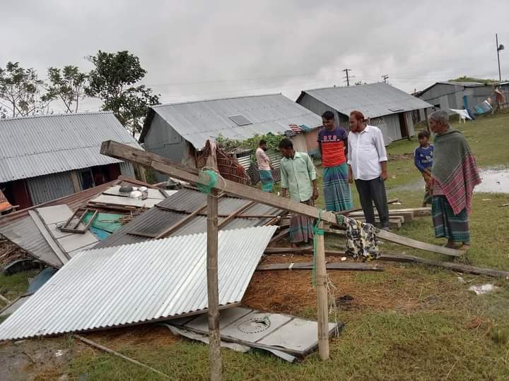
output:
[[[0,183],[121,162],[105,140],[141,149],[111,112],[0,119]]]

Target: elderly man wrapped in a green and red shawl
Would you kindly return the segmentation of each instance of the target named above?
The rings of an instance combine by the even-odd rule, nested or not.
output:
[[[451,128],[446,111],[435,111],[429,118],[435,133],[435,152],[431,177],[431,210],[435,237],[447,238],[448,248],[470,247],[468,214],[472,208],[474,186],[481,183],[472,150],[460,131]]]

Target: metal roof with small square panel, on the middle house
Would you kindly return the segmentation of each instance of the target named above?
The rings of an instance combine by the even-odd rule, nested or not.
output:
[[[149,114],[154,111],[197,150],[205,146],[206,140],[219,135],[246,140],[254,135],[283,133],[291,124],[305,124],[310,128],[322,126],[320,116],[281,94],[160,104],[152,106]],[[239,114],[252,124],[238,126],[230,119],[230,116]],[[141,141],[150,123],[151,118],[147,118]]]

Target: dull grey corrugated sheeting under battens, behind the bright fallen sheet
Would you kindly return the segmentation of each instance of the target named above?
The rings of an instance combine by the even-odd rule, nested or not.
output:
[[[240,198],[224,197],[218,201],[218,214],[231,214],[240,209],[249,201]],[[148,234],[157,236],[170,226],[185,219],[190,213],[197,210],[206,203],[206,195],[193,189],[184,188],[174,195],[171,195],[163,202],[160,207],[153,207],[143,214],[133,219],[128,224],[122,226],[104,241],[100,241],[95,248],[107,248],[111,246],[126,245],[128,243],[144,242],[151,238],[146,236],[136,236],[138,234]],[[175,210],[165,210],[162,207]],[[204,210],[206,212],[206,210]],[[246,215],[280,215],[284,213],[276,207],[263,204],[254,204],[242,212]],[[218,219],[221,224],[223,218]],[[223,226],[222,230],[247,228],[253,226],[263,226],[270,222],[271,218],[235,218]],[[194,216],[186,224],[173,231],[170,236],[182,236],[185,234],[204,233],[206,231],[206,217]]]

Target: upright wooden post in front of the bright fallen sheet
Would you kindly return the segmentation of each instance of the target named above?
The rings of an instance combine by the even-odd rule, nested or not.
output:
[[[221,335],[219,334],[218,289],[218,198],[207,196],[207,296],[209,301],[209,366],[212,381],[221,380]]]

